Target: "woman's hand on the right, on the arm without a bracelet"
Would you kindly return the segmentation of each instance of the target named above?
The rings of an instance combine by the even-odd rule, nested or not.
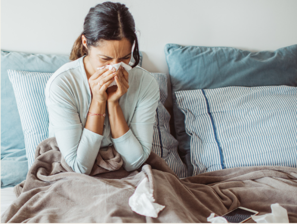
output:
[[[129,73],[121,66],[117,71],[117,76],[115,76],[115,81],[117,86],[110,86],[106,89],[107,92],[107,102],[108,103],[117,103],[121,96],[123,96],[129,88],[128,80]]]

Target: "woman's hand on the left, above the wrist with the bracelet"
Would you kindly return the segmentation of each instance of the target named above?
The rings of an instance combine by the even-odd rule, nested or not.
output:
[[[117,75],[116,69],[109,70],[108,68],[99,69],[88,80],[93,98],[99,103],[105,103],[107,100],[106,89],[115,80]]]

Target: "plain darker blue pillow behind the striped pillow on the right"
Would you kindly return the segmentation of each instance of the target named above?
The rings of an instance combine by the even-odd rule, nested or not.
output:
[[[190,136],[174,92],[227,86],[297,86],[297,45],[270,51],[250,52],[232,47],[165,46],[172,86],[174,125],[179,151],[185,154],[188,176],[193,167]]]

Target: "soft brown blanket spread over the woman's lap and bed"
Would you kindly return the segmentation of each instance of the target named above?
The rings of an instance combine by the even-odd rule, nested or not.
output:
[[[139,215],[128,205],[145,177],[155,202],[165,206],[158,218]],[[211,213],[223,215],[238,206],[271,213],[272,203],[280,203],[289,221],[297,222],[296,168],[240,167],[178,179],[153,152],[138,170],[127,172],[109,148],[98,154],[89,176],[72,171],[55,138],[36,148],[27,179],[14,192],[17,199],[1,222],[207,222]]]

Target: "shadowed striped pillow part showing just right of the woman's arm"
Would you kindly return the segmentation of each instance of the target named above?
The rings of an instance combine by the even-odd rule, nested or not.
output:
[[[187,176],[187,170],[177,153],[177,140],[170,134],[170,114],[164,107],[168,95],[165,73],[152,73],[159,84],[160,100],[156,109],[152,151],[170,166],[179,178]]]

